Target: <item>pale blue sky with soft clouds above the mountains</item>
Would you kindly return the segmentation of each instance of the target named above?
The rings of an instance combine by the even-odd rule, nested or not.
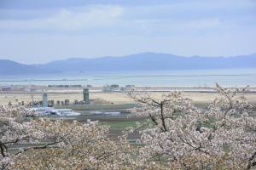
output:
[[[0,0],[0,59],[256,53],[256,0]]]

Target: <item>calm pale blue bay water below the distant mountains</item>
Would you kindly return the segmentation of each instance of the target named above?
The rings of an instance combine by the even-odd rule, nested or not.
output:
[[[198,71],[120,71],[1,77],[0,85],[136,85],[256,87],[256,69]]]

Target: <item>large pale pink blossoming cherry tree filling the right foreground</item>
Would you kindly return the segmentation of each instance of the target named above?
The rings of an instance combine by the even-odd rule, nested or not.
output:
[[[148,117],[138,140],[140,160],[175,169],[250,169],[256,165],[256,119],[239,88],[216,88],[219,97],[207,109],[191,105],[179,92],[154,99],[129,92]],[[138,127],[145,124],[138,125]],[[131,129],[132,131],[132,129]]]

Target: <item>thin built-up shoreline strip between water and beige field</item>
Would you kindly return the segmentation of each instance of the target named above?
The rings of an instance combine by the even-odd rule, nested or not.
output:
[[[113,86],[113,87],[112,87]],[[243,87],[225,87],[223,88],[246,88]],[[1,86],[0,94],[79,94],[84,88],[88,88],[92,93],[101,92],[119,92],[124,93],[134,89],[137,92],[196,92],[196,93],[216,93],[214,87],[207,86],[119,86],[118,84],[105,85],[105,86],[81,86],[81,85],[56,85],[56,86],[37,86],[37,85],[12,85]],[[245,93],[256,93],[256,87],[248,86]]]

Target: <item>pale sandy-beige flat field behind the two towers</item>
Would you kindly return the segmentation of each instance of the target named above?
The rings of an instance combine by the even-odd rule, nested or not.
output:
[[[15,104],[15,100],[18,101],[25,101],[29,102],[34,99],[35,101],[42,100],[43,93],[1,93],[0,94],[0,104],[7,105],[9,101]],[[162,92],[152,92],[151,93],[154,98],[160,98],[163,94]],[[218,94],[215,93],[203,93],[203,92],[184,92],[183,96],[192,99],[195,103],[209,103],[217,97]],[[256,103],[256,94],[255,93],[248,93],[245,95],[247,100],[251,103]],[[82,93],[48,93],[48,99],[56,100],[64,100],[69,99],[73,102],[75,99],[82,100],[83,94]],[[123,105],[123,104],[130,104],[133,103],[132,99],[130,99],[125,93],[122,92],[112,92],[112,93],[104,93],[104,92],[91,92],[90,99],[103,99],[107,102],[116,104],[116,105]]]

